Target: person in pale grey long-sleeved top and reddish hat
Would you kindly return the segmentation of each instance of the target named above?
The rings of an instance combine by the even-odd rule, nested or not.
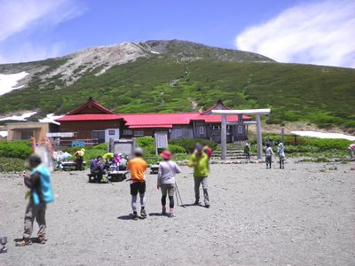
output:
[[[181,173],[181,169],[175,161],[171,160],[170,151],[164,151],[161,154],[162,160],[159,163],[158,181],[156,188],[162,189],[162,215],[166,215],[166,197],[169,196],[169,217],[175,217],[174,214],[174,192],[176,189],[175,175]]]

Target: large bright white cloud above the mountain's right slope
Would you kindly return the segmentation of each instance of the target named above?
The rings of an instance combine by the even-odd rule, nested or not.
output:
[[[355,1],[299,4],[235,39],[280,62],[355,67]]]

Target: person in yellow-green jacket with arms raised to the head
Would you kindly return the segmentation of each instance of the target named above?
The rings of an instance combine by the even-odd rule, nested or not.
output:
[[[188,166],[193,168],[194,205],[200,204],[200,186],[202,184],[205,207],[209,207],[209,187],[207,184],[209,176],[209,156],[203,153],[202,145],[196,145],[195,153],[191,156]]]

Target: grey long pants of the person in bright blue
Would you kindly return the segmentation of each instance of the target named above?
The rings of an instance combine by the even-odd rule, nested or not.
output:
[[[41,203],[39,205],[35,205],[30,200],[28,203],[28,207],[26,208],[25,214],[25,229],[23,231],[23,238],[29,239],[32,235],[33,231],[33,223],[36,218],[36,222],[39,226],[38,236],[45,237],[46,232],[46,223],[45,223],[45,209],[47,207],[46,203]]]

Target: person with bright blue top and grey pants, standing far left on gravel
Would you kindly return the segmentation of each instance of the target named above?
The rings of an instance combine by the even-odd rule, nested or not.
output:
[[[23,239],[16,243],[16,246],[28,246],[32,244],[31,235],[33,231],[33,223],[39,226],[37,242],[44,244],[46,223],[45,209],[47,203],[54,200],[51,190],[51,172],[42,164],[41,157],[35,153],[29,156],[28,165],[31,168],[30,175],[23,175],[26,186],[30,189],[28,207],[25,214],[25,229]]]

